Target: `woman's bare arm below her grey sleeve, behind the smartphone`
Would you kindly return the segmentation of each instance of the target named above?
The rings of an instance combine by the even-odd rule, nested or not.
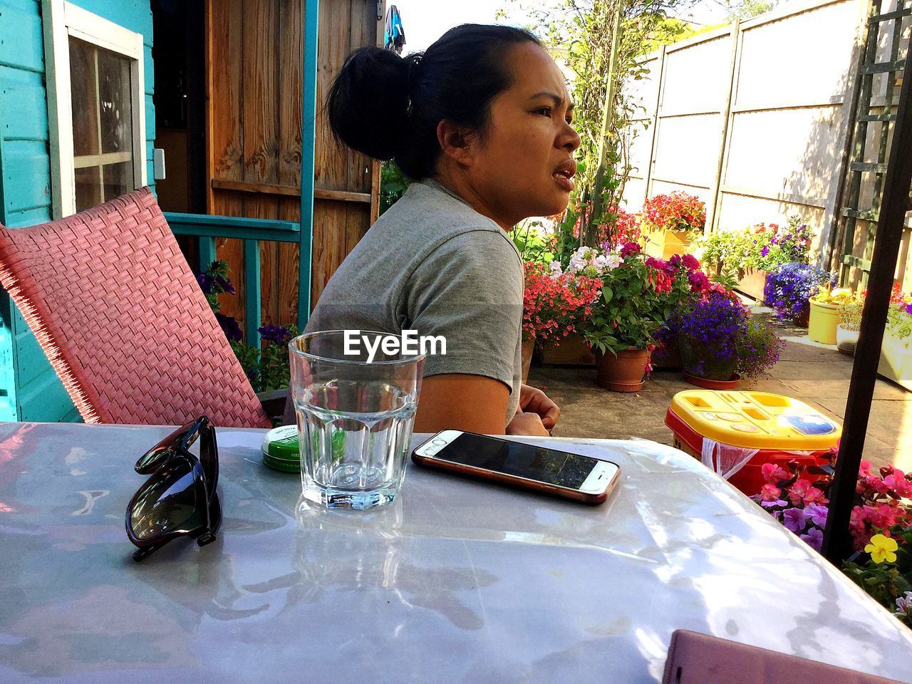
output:
[[[504,425],[509,400],[510,389],[493,378],[462,373],[430,376],[421,381],[414,431],[547,436],[548,430],[535,413],[517,411],[510,425]]]

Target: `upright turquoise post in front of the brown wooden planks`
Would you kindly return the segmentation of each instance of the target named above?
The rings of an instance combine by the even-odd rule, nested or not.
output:
[[[310,317],[310,271],[314,245],[314,154],[316,147],[316,55],[319,0],[304,5],[304,92],[301,111],[301,233],[298,240],[297,326]]]

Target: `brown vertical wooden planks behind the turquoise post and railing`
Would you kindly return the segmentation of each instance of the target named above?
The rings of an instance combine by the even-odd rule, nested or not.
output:
[[[302,41],[305,0],[209,0],[208,212],[229,216],[300,218]],[[378,42],[374,0],[320,3],[317,102],[347,54]],[[382,34],[379,34],[380,36]],[[322,107],[316,117],[312,297],[367,232],[378,197],[378,164],[338,148]],[[244,247],[219,240],[238,296],[223,312],[244,328]],[[263,324],[295,321],[298,249],[261,244]]]

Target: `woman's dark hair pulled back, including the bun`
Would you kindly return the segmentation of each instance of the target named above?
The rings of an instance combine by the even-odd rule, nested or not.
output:
[[[379,160],[395,159],[409,178],[434,171],[443,119],[483,134],[490,105],[512,77],[506,52],[538,38],[522,28],[463,24],[424,53],[399,57],[379,47],[351,53],[326,99],[337,141]]]

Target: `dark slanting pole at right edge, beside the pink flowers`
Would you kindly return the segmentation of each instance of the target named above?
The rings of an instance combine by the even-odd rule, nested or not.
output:
[[[848,532],[849,518],[855,503],[855,482],[865,448],[865,432],[871,414],[871,400],[880,347],[884,341],[886,312],[890,306],[890,290],[896,273],[896,260],[902,242],[903,222],[908,208],[909,188],[912,187],[912,59],[903,69],[903,86],[899,91],[896,127],[886,166],[884,198],[880,204],[871,276],[868,280],[865,310],[861,320],[852,381],[845,403],[845,427],[839,446],[833,485],[830,488],[830,513],[824,531],[823,554],[839,565],[851,552]]]

